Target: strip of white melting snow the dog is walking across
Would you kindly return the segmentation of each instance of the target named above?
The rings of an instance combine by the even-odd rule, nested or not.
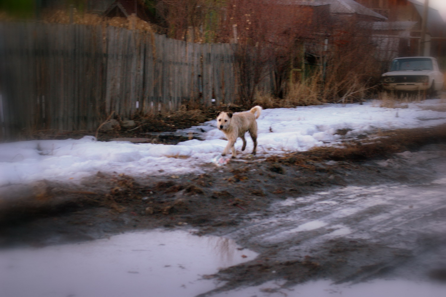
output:
[[[265,109],[257,120],[257,152],[281,154],[338,145],[339,129],[348,130],[347,136],[354,136],[378,129],[440,125],[446,123],[446,115],[436,110],[444,105],[442,100],[434,99],[409,104],[406,109],[381,108],[375,102]],[[203,139],[178,145],[98,142],[93,136],[3,143],[0,144],[0,187],[41,179],[77,181],[98,171],[132,176],[200,173],[203,172],[201,165],[211,163],[227,144],[221,139],[223,133],[214,125],[215,121],[209,121],[178,130],[176,134],[194,133]],[[240,151],[241,145],[239,139],[235,147]],[[244,155],[250,150],[252,142],[248,137]]]

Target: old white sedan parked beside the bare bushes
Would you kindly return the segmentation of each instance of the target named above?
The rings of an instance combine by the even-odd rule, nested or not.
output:
[[[444,84],[437,59],[432,57],[395,58],[381,79],[386,91],[426,91],[430,95],[443,90]]]

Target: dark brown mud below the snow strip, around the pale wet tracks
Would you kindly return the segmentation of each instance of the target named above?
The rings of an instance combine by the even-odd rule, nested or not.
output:
[[[376,136],[379,140],[371,142]],[[444,237],[414,235],[407,248],[389,243],[398,237],[397,231],[386,235],[393,238],[388,243],[340,237],[297,253],[295,247],[305,238],[290,235],[265,244],[255,239],[264,231],[250,230],[259,220],[273,218],[277,211],[303,209],[310,203],[274,206],[289,197],[306,199],[347,186],[422,186],[446,173],[442,169],[445,164],[446,126],[442,126],[367,135],[346,140],[344,149],[318,148],[268,158],[245,155],[222,167],[204,165],[206,173],[199,175],[132,177],[97,172],[80,185],[45,180],[12,185],[1,189],[0,247],[41,247],[153,228],[194,229],[196,234],[227,235],[260,253],[253,261],[209,276],[227,280],[222,289],[274,279],[295,284],[324,277],[343,282],[392,276],[407,263],[416,263],[425,253],[422,247],[446,251]],[[436,223],[446,226],[445,205],[443,200],[421,215],[408,212],[401,218],[410,221],[411,216],[439,212]],[[413,209],[410,205],[401,207],[404,211]],[[373,206],[351,218],[349,224],[386,213],[390,213],[388,207]],[[437,266],[426,267],[423,276],[445,282],[446,262]]]

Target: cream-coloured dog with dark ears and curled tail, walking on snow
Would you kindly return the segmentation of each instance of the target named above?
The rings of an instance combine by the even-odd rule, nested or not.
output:
[[[257,122],[256,119],[260,117],[260,111],[262,108],[257,105],[254,106],[249,111],[244,111],[241,113],[226,113],[224,111],[220,111],[217,113],[217,127],[219,130],[222,130],[226,135],[227,146],[225,147],[222,156],[227,155],[229,150],[232,150],[232,158],[235,158],[237,154],[235,151],[235,141],[237,138],[242,138],[243,146],[242,151],[246,148],[246,139],[245,133],[249,132],[251,135],[252,141],[254,142],[254,148],[252,149],[252,154],[256,155],[256,147],[257,147]],[[257,113],[257,114],[256,114]]]

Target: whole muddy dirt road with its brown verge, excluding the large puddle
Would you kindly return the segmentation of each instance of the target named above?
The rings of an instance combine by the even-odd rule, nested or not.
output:
[[[382,140],[379,154],[357,143],[342,153],[250,156],[205,165],[198,176],[98,172],[76,187],[10,187],[0,204],[0,247],[194,228],[260,253],[216,274],[227,282],[211,293],[274,279],[445,282],[446,145],[444,137],[430,143],[406,151]]]

